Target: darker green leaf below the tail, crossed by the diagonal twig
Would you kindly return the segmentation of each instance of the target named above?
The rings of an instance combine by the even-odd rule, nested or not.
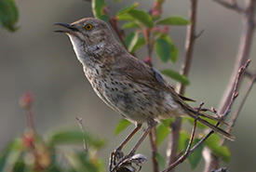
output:
[[[195,144],[196,144],[198,141],[200,141],[200,139],[195,138],[195,139],[193,140],[193,143],[192,143],[191,147],[195,146]],[[188,145],[189,139],[187,139],[186,142],[187,142],[186,145]],[[195,152],[193,152],[193,153],[191,153],[191,154],[189,155],[189,157],[188,157],[188,162],[189,162],[189,164],[191,165],[191,168],[192,168],[192,169],[195,169],[196,165],[198,165],[198,163],[200,162],[200,160],[201,160],[201,158],[202,158],[203,148],[204,148],[204,147],[201,145],[201,146],[199,146],[199,147],[195,150]]]

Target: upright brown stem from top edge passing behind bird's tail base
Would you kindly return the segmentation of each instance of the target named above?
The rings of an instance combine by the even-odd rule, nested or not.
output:
[[[191,0],[189,19],[191,20],[192,24],[187,27],[187,36],[185,41],[185,60],[183,61],[181,72],[185,76],[188,76],[190,71],[195,46],[196,6],[197,0]],[[179,84],[177,86],[177,91],[183,95],[185,92],[185,86]],[[180,137],[181,126],[182,120],[180,117],[177,117],[175,122],[170,124],[172,132],[168,141],[167,165],[171,165],[177,159],[178,140]]]

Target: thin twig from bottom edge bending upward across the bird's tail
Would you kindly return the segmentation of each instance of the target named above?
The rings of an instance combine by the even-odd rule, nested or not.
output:
[[[193,129],[192,129],[192,132],[191,132],[191,136],[190,136],[189,143],[188,143],[188,146],[186,148],[186,151],[184,152],[184,154],[178,160],[176,160],[173,164],[169,165],[168,168],[164,169],[161,172],[168,172],[168,171],[172,170],[177,165],[181,164],[192,152],[195,151],[195,149],[192,151],[190,148],[191,148],[192,142],[195,138],[195,128],[196,128],[197,116],[198,116],[198,113],[201,111],[201,108],[202,108],[203,105],[204,105],[204,103],[202,102],[200,104],[196,114],[195,114],[194,126],[193,126]]]

